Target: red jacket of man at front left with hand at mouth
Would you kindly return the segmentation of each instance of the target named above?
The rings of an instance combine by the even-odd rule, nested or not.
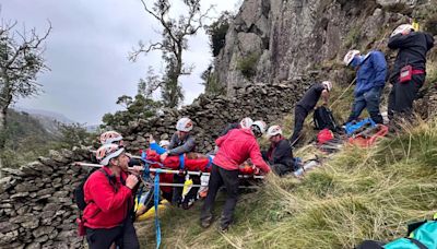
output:
[[[109,168],[103,167],[109,176]],[[123,180],[128,178],[121,173]],[[118,189],[116,192],[105,174],[101,170],[93,173],[84,185],[85,202],[83,211],[85,226],[90,228],[111,228],[120,225],[128,214],[128,209],[133,206],[132,190],[121,183],[120,177],[113,178]],[[128,205],[129,203],[129,205]]]

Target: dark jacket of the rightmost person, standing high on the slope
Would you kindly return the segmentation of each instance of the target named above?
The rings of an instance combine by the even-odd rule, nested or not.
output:
[[[389,39],[388,47],[399,49],[390,82],[399,80],[401,69],[408,64],[416,70],[426,70],[426,52],[434,46],[434,38],[428,33],[411,32],[408,35],[398,34]]]

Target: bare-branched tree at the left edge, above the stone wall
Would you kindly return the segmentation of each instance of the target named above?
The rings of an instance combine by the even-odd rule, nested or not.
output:
[[[48,69],[43,58],[43,43],[50,34],[50,22],[43,35],[38,35],[35,28],[26,31],[24,27],[19,32],[16,24],[16,21],[3,20],[0,24],[0,150],[5,143],[9,106],[19,97],[38,94],[40,84],[36,82],[36,75]]]

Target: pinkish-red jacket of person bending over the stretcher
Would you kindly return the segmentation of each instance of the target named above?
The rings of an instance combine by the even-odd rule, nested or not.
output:
[[[213,163],[227,170],[238,169],[238,166],[251,158],[255,166],[263,173],[269,173],[269,165],[262,159],[257,139],[248,129],[233,129],[215,140],[218,152]]]

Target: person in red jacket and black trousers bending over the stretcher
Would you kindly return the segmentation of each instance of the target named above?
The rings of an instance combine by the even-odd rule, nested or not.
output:
[[[213,159],[208,185],[209,191],[200,216],[202,227],[206,228],[212,224],[212,209],[222,185],[226,187],[227,199],[223,209],[220,229],[226,232],[233,222],[238,199],[238,166],[240,164],[251,158],[253,165],[264,174],[270,171],[269,165],[262,159],[257,142],[257,138],[260,138],[264,131],[265,123],[255,121],[250,129],[233,129],[215,141],[218,152]]]

